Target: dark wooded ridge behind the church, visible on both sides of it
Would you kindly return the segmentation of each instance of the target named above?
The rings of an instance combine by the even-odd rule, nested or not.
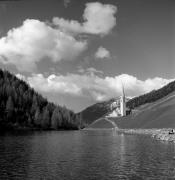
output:
[[[166,97],[169,97],[171,93],[175,93],[175,81],[170,82],[169,84],[165,85],[164,87],[153,90],[147,94],[143,94],[141,96],[135,97],[127,102],[127,107],[133,109],[133,111],[137,111],[140,107],[145,108],[146,105],[151,105],[150,103],[159,102],[161,99],[164,99]],[[172,95],[174,98],[175,95]],[[110,99],[109,101],[96,103],[92,106],[89,106],[88,108],[84,109],[81,114],[81,117],[85,124],[91,124],[96,119],[99,119],[104,116],[104,114],[109,113],[109,105],[114,100]],[[171,99],[169,97],[169,99]],[[168,99],[167,99],[168,101]],[[163,103],[163,102],[162,102]],[[165,102],[166,103],[166,102]],[[101,107],[102,110],[101,110]],[[108,106],[107,106],[108,105]],[[152,104],[153,105],[153,104]],[[146,109],[145,109],[146,110]]]

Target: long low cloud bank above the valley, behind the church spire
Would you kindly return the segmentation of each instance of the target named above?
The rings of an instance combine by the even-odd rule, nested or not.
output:
[[[103,101],[121,95],[121,82],[124,84],[126,95],[134,97],[161,88],[173,79],[156,77],[143,81],[128,74],[100,77],[95,73],[85,73],[84,75],[67,74],[65,76],[52,74],[48,77],[33,74],[25,80],[41,93],[67,94]]]

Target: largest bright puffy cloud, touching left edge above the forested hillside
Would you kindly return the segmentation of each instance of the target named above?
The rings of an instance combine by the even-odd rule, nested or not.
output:
[[[33,71],[45,57],[53,62],[71,60],[86,47],[86,41],[76,40],[45,22],[28,19],[0,39],[0,62],[14,64],[20,71]]]

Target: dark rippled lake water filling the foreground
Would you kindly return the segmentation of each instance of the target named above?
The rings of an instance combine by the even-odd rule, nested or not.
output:
[[[0,180],[175,179],[175,145],[114,131],[0,136]]]

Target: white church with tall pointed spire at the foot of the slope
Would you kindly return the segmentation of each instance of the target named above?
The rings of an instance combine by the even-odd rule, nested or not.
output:
[[[110,105],[110,110],[111,113],[108,114],[106,117],[123,117],[127,115],[128,109],[126,108],[126,97],[123,85],[122,95],[119,99],[117,99]]]

